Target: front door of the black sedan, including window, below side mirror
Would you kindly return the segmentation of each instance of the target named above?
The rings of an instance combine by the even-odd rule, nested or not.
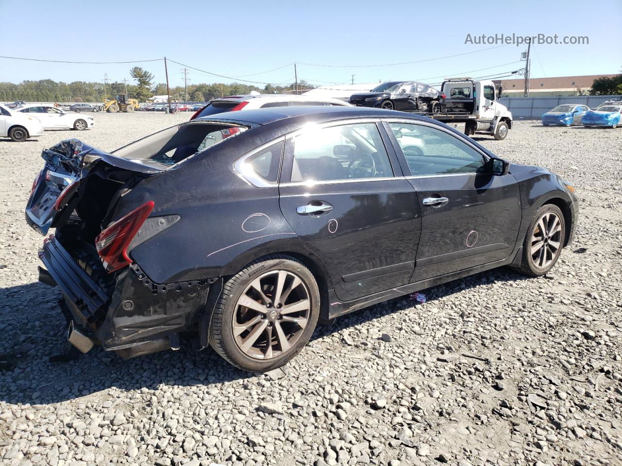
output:
[[[422,216],[412,281],[507,258],[521,222],[516,179],[493,175],[483,151],[440,124],[386,124]]]

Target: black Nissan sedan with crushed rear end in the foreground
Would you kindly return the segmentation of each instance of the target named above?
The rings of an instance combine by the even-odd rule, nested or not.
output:
[[[502,265],[543,275],[577,221],[554,173],[382,109],[239,111],[42,157],[40,280],[73,345],[123,357],[197,332],[237,367],[276,368],[318,321]]]

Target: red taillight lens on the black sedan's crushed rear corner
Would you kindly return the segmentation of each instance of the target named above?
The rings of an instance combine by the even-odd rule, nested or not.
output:
[[[154,205],[154,201],[142,204],[97,235],[95,247],[108,272],[132,263],[128,256],[128,246],[151,214]]]

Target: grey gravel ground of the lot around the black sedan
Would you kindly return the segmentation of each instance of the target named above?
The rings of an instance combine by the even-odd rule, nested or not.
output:
[[[544,278],[502,268],[363,309],[267,375],[189,343],[48,362],[67,343],[24,222],[41,149],[79,136],[111,150],[189,117],[96,114],[80,134],[0,140],[0,462],[622,464],[622,129],[523,121],[478,138],[577,187],[575,242]]]

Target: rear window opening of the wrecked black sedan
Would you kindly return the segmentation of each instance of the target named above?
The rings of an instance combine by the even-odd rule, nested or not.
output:
[[[113,150],[117,157],[129,160],[175,165],[248,128],[213,122],[190,122],[174,126]]]

